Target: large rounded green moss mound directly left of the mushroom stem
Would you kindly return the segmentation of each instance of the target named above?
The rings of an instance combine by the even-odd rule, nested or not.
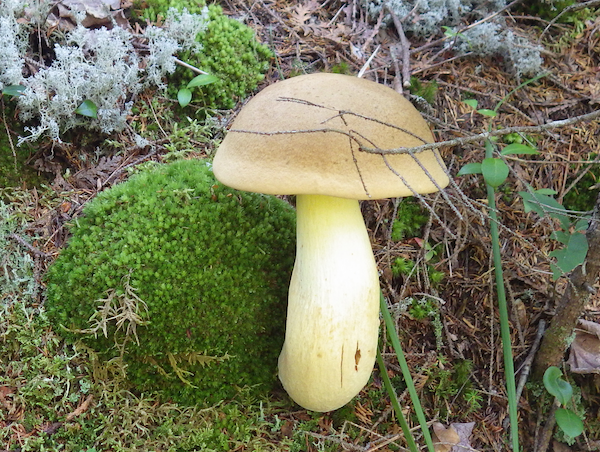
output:
[[[72,233],[47,275],[57,332],[180,403],[273,387],[295,255],[287,203],[178,161],[100,193]]]

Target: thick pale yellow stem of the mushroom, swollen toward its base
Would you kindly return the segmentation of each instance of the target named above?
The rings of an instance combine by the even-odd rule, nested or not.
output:
[[[379,333],[379,277],[358,201],[297,197],[297,251],[279,379],[313,411],[367,384]]]

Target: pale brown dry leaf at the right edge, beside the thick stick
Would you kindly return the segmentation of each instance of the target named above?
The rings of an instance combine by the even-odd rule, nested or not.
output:
[[[600,324],[579,320],[567,364],[578,374],[600,373]]]

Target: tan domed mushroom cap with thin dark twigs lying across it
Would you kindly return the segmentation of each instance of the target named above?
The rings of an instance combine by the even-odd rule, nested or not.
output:
[[[275,83],[251,99],[219,147],[213,169],[222,183],[259,193],[410,196],[448,184],[437,151],[384,157],[359,145],[394,149],[430,142],[423,117],[391,88],[316,73]]]

